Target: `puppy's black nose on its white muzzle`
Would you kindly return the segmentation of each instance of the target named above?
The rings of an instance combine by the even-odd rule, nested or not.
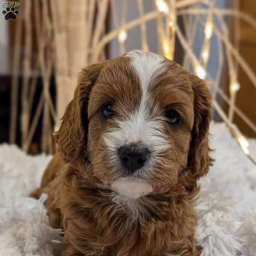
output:
[[[144,165],[148,154],[148,149],[142,146],[122,146],[119,148],[119,157],[122,164],[131,172]]]

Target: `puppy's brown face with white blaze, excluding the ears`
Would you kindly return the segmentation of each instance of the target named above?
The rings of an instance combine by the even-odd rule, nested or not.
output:
[[[90,93],[88,119],[90,158],[103,183],[175,186],[194,122],[191,81],[180,67],[137,52],[110,61]]]

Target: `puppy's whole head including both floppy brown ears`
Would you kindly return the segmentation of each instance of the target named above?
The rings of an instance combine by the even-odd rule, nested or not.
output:
[[[84,161],[137,198],[208,172],[211,96],[204,80],[160,55],[132,51],[81,72],[56,134],[65,162]],[[182,177],[182,179],[181,179]]]

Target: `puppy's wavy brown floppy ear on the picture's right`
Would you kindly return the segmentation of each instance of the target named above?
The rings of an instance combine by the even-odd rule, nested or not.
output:
[[[208,143],[209,125],[211,122],[211,93],[206,81],[189,74],[194,92],[194,125],[189,148],[187,167],[193,180],[207,174],[213,159],[209,156],[211,149]]]

